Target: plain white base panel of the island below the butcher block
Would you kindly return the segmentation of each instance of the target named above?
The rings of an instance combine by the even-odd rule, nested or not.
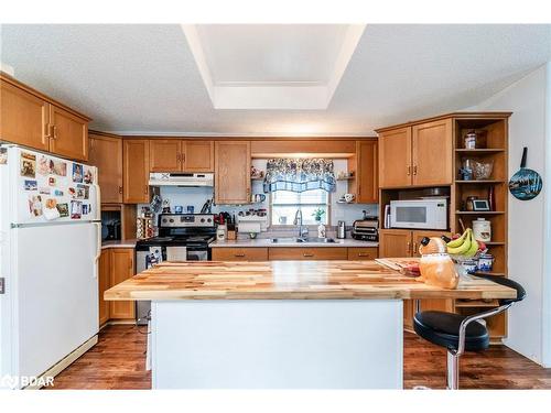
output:
[[[401,300],[154,301],[153,389],[401,389]]]

